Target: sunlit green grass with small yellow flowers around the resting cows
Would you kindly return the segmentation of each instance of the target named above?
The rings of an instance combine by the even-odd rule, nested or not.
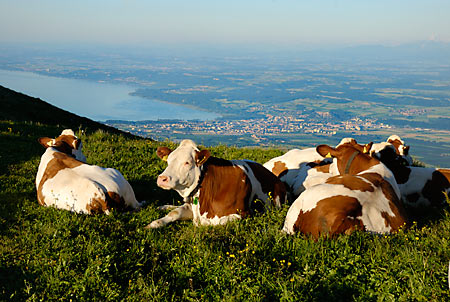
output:
[[[144,230],[162,204],[158,143],[81,134],[88,162],[119,169],[137,213],[86,216],[38,205],[39,136],[56,126],[0,122],[0,300],[448,301],[450,216],[390,236],[356,232],[317,241],[280,232],[287,207],[226,226],[176,222]],[[215,155],[264,162],[279,150],[217,146]]]

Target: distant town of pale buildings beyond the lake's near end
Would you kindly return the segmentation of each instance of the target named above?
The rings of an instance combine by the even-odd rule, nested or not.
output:
[[[318,112],[318,115],[327,116],[327,112]],[[333,136],[342,131],[363,131],[375,129],[389,129],[390,125],[380,123],[376,119],[351,118],[346,121],[313,121],[307,115],[290,114],[276,116],[267,114],[261,119],[241,120],[212,120],[212,121],[107,121],[114,127],[129,131],[133,134],[151,137],[154,139],[169,138],[169,134],[208,134],[208,135],[248,135],[255,140],[266,140],[266,136],[279,134],[315,134],[320,136]]]

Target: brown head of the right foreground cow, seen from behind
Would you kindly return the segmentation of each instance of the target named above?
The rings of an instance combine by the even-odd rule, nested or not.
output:
[[[362,148],[361,145],[355,146],[351,143],[345,143],[338,145],[336,148],[319,145],[316,147],[316,151],[325,158],[333,158],[333,164],[330,167],[332,174],[358,174],[379,163],[377,159],[364,152],[364,148],[370,150],[371,147],[372,143]]]

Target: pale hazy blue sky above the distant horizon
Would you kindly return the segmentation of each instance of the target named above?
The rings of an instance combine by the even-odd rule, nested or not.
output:
[[[449,0],[0,0],[0,43],[450,42]]]

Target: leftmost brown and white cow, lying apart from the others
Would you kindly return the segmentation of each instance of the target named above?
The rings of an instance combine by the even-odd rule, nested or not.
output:
[[[140,207],[119,171],[85,163],[81,140],[71,129],[55,139],[41,137],[39,143],[46,148],[36,176],[40,205],[85,214]]]

